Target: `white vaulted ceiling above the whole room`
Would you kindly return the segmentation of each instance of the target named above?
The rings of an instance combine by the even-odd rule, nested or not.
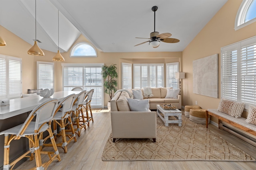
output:
[[[104,52],[183,51],[227,0],[0,0],[0,25],[48,51],[66,52],[84,35]],[[135,37],[150,38],[154,31],[172,33],[179,43],[161,42],[158,48]],[[36,26],[36,29],[35,29]],[[36,33],[35,33],[36,30]],[[1,35],[1,32],[0,32]]]

